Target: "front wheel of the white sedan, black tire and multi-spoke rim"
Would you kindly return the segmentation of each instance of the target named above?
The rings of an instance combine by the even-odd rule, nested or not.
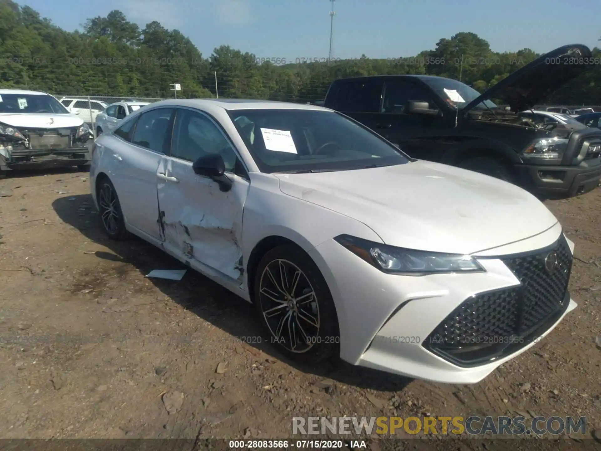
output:
[[[339,352],[332,295],[301,248],[282,245],[267,252],[257,266],[253,294],[260,321],[279,351],[302,363],[317,363]]]

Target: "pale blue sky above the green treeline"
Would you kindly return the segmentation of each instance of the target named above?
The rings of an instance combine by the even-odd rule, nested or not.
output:
[[[205,57],[229,44],[265,58],[328,56],[328,0],[18,0],[73,31],[88,17],[121,10],[142,27],[158,20],[188,35]],[[550,51],[599,44],[599,0],[336,0],[335,58],[407,57],[440,38],[471,31],[493,51]]]

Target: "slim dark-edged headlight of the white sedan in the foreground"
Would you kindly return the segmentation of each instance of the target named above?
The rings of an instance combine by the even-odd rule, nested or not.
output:
[[[350,235],[340,235],[334,239],[370,265],[392,274],[425,275],[439,272],[486,271],[469,255],[404,249]]]

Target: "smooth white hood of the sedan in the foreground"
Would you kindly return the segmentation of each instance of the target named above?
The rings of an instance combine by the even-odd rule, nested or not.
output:
[[[398,247],[474,254],[557,223],[537,198],[515,185],[433,162],[275,175],[284,194],[361,221]]]

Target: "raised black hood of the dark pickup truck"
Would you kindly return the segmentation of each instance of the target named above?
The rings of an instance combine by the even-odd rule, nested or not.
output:
[[[591,67],[584,64],[590,57],[590,49],[582,44],[570,44],[555,49],[502,79],[468,103],[463,111],[490,99],[502,100],[514,112],[532,109],[541,100],[584,72],[587,67]],[[576,64],[572,64],[572,61]]]

